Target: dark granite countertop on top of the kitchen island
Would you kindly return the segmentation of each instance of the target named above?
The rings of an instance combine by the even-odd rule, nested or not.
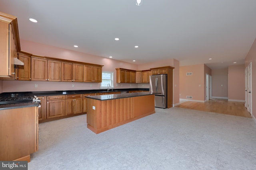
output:
[[[132,98],[132,97],[154,95],[154,94],[158,94],[158,93],[137,92],[137,93],[122,93],[122,94],[106,94],[106,95],[86,96],[86,97],[96,99],[96,100],[112,100],[112,99]]]

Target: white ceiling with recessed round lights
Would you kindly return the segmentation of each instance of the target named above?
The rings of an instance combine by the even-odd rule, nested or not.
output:
[[[170,58],[180,66],[204,63],[212,69],[244,64],[256,38],[256,0],[135,3],[0,0],[0,12],[18,18],[20,39],[134,64]]]

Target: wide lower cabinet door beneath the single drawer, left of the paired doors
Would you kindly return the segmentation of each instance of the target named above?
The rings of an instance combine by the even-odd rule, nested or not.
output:
[[[65,115],[65,100],[47,101],[46,119]]]

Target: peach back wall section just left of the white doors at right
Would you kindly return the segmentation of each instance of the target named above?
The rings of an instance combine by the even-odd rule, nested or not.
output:
[[[228,100],[245,100],[244,64],[228,66]]]

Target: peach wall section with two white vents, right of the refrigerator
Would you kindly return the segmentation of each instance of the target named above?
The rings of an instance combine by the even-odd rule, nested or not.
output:
[[[204,101],[204,64],[180,66],[180,99],[192,96],[192,100]],[[192,72],[192,76],[186,76]]]

